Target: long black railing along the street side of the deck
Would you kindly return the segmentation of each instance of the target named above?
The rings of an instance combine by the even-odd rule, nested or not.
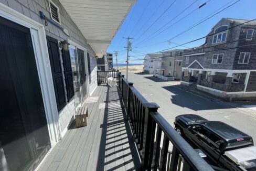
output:
[[[118,73],[118,89],[141,158],[141,170],[177,170],[182,161],[183,170],[214,170],[157,112],[156,103],[149,103],[121,72],[114,72]]]

